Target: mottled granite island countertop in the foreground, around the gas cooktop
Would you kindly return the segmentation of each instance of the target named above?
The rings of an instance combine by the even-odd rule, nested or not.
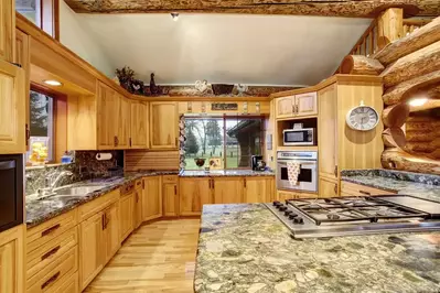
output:
[[[440,292],[440,232],[296,240],[264,205],[208,205],[194,289]]]

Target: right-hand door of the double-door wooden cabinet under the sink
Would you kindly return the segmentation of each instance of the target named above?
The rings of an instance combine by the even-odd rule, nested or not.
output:
[[[105,210],[105,237],[106,237],[106,257],[105,262],[107,263],[120,248],[120,235],[119,235],[119,203],[116,202]]]

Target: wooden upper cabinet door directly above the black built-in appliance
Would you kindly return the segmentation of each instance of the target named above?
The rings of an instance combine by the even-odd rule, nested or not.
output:
[[[24,70],[0,61],[0,153],[26,151],[24,95]]]

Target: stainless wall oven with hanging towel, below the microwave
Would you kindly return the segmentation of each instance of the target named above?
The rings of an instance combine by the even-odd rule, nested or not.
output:
[[[291,185],[289,182],[288,162],[297,162],[300,164],[300,173],[296,185]],[[318,192],[318,152],[278,152],[277,188],[311,193]]]

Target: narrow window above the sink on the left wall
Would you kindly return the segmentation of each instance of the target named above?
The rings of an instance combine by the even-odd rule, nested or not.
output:
[[[31,90],[28,165],[54,161],[54,99]]]

